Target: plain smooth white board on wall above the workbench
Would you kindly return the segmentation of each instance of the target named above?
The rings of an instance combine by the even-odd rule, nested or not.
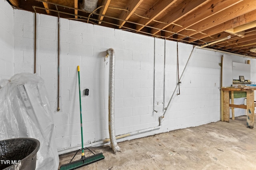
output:
[[[244,76],[244,80],[251,80],[251,65],[232,62],[233,80],[239,80],[239,76]]]

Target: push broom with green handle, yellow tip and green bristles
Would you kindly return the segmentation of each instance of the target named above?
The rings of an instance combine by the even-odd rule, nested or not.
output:
[[[71,159],[70,163],[68,164],[64,164],[62,166],[60,166],[60,170],[74,170],[76,168],[80,168],[82,166],[88,165],[88,164],[92,164],[94,162],[97,162],[99,160],[102,160],[105,158],[105,156],[103,156],[102,152],[95,154],[94,152],[92,152],[92,150],[90,150],[89,148],[84,148],[84,141],[83,141],[83,124],[82,124],[82,106],[81,106],[81,90],[80,90],[80,67],[77,66],[77,71],[78,71],[78,85],[79,85],[79,100],[80,100],[80,121],[81,121],[81,139],[82,139],[82,158],[79,160],[76,160],[74,162],[72,162],[73,158],[76,156],[76,154],[73,156],[73,158]],[[85,157],[84,156],[84,149],[88,149],[90,150],[90,152],[93,153],[92,156],[88,156]]]

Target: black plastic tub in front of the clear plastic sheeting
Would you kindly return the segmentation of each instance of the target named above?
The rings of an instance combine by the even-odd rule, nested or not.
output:
[[[34,170],[40,142],[33,138],[0,141],[0,170]]]

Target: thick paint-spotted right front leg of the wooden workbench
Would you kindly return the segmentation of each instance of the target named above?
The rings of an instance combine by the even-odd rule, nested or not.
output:
[[[246,92],[247,127],[254,128],[254,91]]]

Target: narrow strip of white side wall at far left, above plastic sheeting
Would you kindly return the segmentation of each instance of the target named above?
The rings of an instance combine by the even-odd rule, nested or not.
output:
[[[6,0],[0,1],[0,79],[14,74],[13,11]]]

